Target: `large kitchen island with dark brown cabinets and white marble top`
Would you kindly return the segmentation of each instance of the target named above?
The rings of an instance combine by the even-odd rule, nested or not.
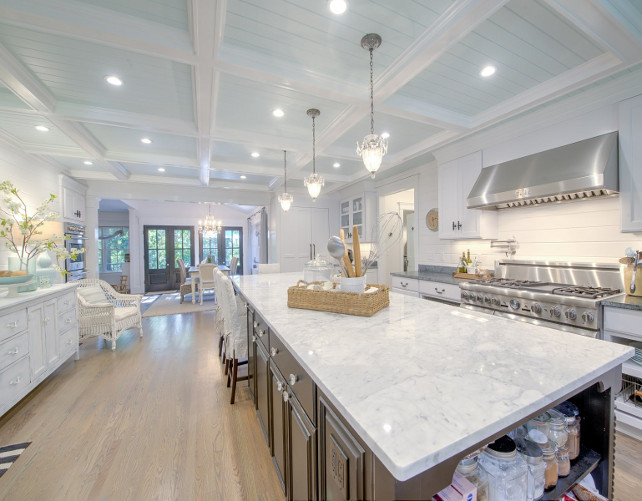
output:
[[[318,453],[312,462],[319,472],[318,489],[308,482],[308,497],[328,497],[330,477],[338,485],[333,493],[346,498],[430,499],[450,483],[465,454],[570,397],[586,402],[583,426],[599,428],[601,438],[591,445],[601,449],[603,490],[610,494],[613,394],[631,348],[394,293],[390,306],[370,318],[288,308],[287,288],[298,279],[299,273],[233,278],[254,319],[248,321],[253,394],[288,497],[296,498],[287,476],[296,481],[297,461],[279,464],[281,446],[286,456],[295,446],[287,429],[281,444],[280,416],[289,411],[274,410],[276,391],[286,393],[284,402],[300,403],[294,410],[308,419],[306,450],[308,458]],[[284,352],[293,359],[284,367],[302,374],[288,377],[276,361]],[[272,365],[277,390],[263,392]],[[307,390],[297,393],[310,380],[314,407]],[[353,443],[333,448],[335,438],[325,433],[337,429],[337,437],[350,432]],[[352,464],[346,451],[354,452]],[[365,463],[357,465],[363,488],[346,494],[342,468],[355,461]]]

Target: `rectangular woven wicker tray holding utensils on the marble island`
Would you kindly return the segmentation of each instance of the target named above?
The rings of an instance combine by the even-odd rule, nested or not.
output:
[[[305,310],[331,311],[346,315],[371,317],[390,304],[390,288],[386,285],[367,284],[377,287],[377,292],[313,291],[305,288],[303,281],[288,288],[288,306]]]

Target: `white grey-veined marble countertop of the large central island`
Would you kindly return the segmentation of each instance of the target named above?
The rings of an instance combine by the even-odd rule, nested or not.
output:
[[[633,348],[390,293],[372,317],[287,307],[300,273],[234,277],[398,480],[552,405]]]

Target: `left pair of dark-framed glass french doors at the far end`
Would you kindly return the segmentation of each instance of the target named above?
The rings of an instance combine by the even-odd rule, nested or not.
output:
[[[194,264],[194,229],[191,226],[145,226],[145,292],[178,288],[176,260]]]

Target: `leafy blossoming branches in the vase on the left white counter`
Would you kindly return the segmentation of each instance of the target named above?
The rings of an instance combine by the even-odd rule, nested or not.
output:
[[[33,259],[45,251],[52,251],[58,259],[76,259],[85,249],[65,248],[64,241],[68,238],[63,235],[50,233],[44,235],[44,230],[49,221],[56,221],[59,214],[51,210],[51,204],[56,200],[56,195],[50,194],[35,211],[29,211],[18,189],[10,181],[0,184],[0,240],[5,246],[18,256],[21,270],[29,272],[29,265]],[[54,268],[61,274],[67,273],[57,263]]]

